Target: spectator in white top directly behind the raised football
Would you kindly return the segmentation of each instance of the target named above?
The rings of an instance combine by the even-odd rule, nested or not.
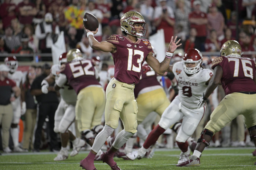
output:
[[[94,35],[94,38],[96,40],[98,40],[99,42],[102,41],[102,25],[101,25],[101,21],[103,19],[103,14],[101,12],[101,10],[98,10],[95,8],[95,3],[93,1],[89,1],[88,2],[88,8],[87,10],[85,10],[84,12],[89,12],[91,14],[93,14],[94,16],[96,16],[96,18],[99,21],[99,28],[98,28],[98,32]]]

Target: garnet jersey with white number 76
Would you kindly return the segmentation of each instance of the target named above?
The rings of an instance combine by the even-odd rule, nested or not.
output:
[[[222,67],[221,84],[225,94],[239,91],[256,91],[254,83],[256,64],[250,58],[220,56],[213,60],[211,68]]]

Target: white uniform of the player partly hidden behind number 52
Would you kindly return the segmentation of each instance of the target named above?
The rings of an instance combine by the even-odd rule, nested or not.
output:
[[[57,82],[60,73],[58,64],[51,67],[51,73],[55,76],[55,82]],[[61,101],[54,116],[54,131],[55,133],[65,133],[75,120],[77,95],[74,89],[67,83],[59,90],[59,93],[61,95]]]

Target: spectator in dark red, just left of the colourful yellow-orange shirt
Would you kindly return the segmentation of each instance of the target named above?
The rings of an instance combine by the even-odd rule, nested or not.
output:
[[[66,26],[68,25],[68,21],[65,18],[64,10],[67,6],[66,1],[63,0],[56,0],[53,1],[48,8],[48,11],[53,14],[53,19],[59,25],[59,29],[64,31]]]

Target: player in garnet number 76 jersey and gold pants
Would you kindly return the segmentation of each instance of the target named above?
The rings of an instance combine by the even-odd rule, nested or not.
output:
[[[200,166],[202,151],[210,145],[214,133],[240,114],[244,116],[245,126],[256,147],[256,63],[250,58],[241,57],[241,46],[237,41],[228,40],[222,45],[221,56],[213,60],[211,68],[214,70],[213,78],[203,93],[198,108],[220,82],[226,96],[211,113],[210,121],[202,131],[193,155],[189,160],[178,164],[179,167]]]

